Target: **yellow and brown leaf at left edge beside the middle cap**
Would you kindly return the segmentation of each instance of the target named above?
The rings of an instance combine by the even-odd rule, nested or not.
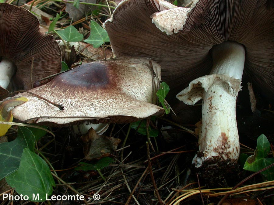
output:
[[[23,104],[28,101],[26,97],[13,97],[6,98],[0,102],[0,121],[2,122],[12,122],[12,109],[19,104]],[[11,125],[0,124],[0,136],[6,134]]]

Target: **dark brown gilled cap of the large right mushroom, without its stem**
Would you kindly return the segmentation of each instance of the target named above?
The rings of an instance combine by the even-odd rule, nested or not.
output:
[[[268,92],[267,95],[274,98],[273,1],[194,2],[188,12],[188,8],[163,12],[165,18],[162,19],[167,22],[162,22],[162,30],[173,24],[171,32],[177,33],[171,35],[152,23],[155,12],[160,12],[157,0],[122,2],[112,19],[105,23],[114,53],[155,60],[160,64],[162,79],[170,86],[170,94],[174,97],[191,80],[209,74],[213,64],[210,49],[214,45],[236,41],[246,49],[244,74],[262,92]],[[185,13],[186,19],[181,16]],[[181,26],[176,26],[178,21],[182,22]]]

